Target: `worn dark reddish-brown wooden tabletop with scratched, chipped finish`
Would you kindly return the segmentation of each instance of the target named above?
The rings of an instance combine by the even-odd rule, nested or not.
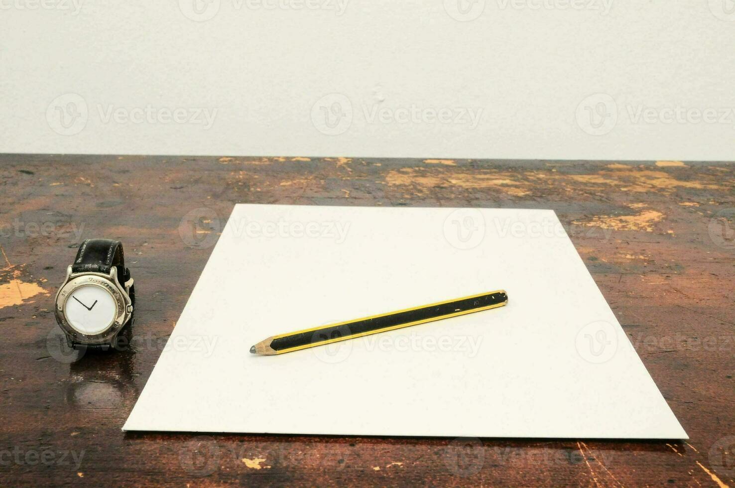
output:
[[[734,188],[725,163],[2,155],[0,485],[734,486]],[[123,434],[236,203],[556,210],[691,439]],[[122,351],[77,357],[52,301],[87,237],[123,241],[137,306]]]

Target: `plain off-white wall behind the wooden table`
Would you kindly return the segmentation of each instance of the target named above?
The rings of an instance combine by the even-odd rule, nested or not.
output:
[[[733,0],[0,9],[1,152],[735,159]]]

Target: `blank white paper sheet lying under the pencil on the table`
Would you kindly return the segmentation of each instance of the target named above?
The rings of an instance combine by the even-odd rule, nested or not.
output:
[[[499,309],[248,353],[498,289]],[[234,207],[123,430],[687,438],[553,211],[276,205]]]

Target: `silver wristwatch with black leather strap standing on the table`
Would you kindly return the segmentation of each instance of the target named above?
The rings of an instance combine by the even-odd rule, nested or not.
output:
[[[54,313],[71,348],[107,350],[117,345],[135,304],[130,270],[118,240],[87,239],[66,269]]]

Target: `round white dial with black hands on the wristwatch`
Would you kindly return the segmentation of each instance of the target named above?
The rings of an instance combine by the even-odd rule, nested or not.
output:
[[[87,335],[107,330],[117,314],[115,298],[104,288],[93,284],[85,284],[74,290],[64,306],[69,325]]]

